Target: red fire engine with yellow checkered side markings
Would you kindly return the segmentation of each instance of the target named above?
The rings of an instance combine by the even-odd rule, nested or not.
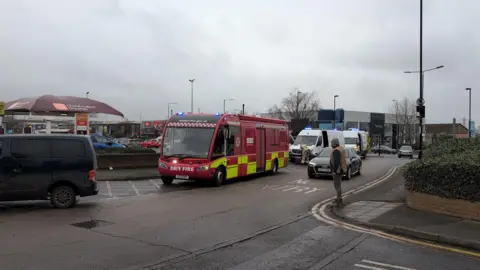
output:
[[[163,130],[158,171],[164,184],[175,178],[225,180],[288,164],[289,133],[283,120],[238,114],[177,113]]]

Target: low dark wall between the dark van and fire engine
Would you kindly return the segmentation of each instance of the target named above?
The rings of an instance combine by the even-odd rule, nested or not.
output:
[[[98,169],[155,168],[159,153],[97,154]]]

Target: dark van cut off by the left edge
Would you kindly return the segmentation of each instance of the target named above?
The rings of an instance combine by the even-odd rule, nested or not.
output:
[[[98,194],[93,145],[82,135],[2,135],[0,201],[50,200],[70,208]]]

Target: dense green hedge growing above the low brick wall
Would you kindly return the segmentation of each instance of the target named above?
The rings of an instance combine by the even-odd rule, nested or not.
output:
[[[480,202],[480,139],[443,139],[408,163],[404,177],[408,191]]]

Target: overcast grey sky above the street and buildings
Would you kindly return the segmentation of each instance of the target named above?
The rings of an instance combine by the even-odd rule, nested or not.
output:
[[[424,0],[427,118],[480,122],[480,1]],[[418,97],[418,0],[1,0],[1,99],[104,101],[127,118],[167,103],[264,112],[293,88],[324,108],[385,112]],[[459,120],[460,121],[460,120]]]

